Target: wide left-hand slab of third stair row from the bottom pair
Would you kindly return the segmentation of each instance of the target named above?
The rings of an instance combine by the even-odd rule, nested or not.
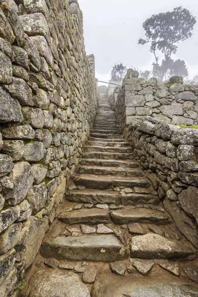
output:
[[[73,190],[67,191],[65,198],[71,202],[92,203],[92,204],[120,204],[120,193],[105,190]]]

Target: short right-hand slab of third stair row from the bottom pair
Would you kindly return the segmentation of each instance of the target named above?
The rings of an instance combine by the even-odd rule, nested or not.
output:
[[[159,196],[136,193],[123,193],[121,197],[122,205],[136,205],[136,204],[158,204]]]

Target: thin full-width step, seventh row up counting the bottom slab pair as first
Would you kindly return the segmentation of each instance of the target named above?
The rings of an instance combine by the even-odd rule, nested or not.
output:
[[[134,159],[134,153],[121,153],[121,152],[83,152],[82,158],[86,159]]]

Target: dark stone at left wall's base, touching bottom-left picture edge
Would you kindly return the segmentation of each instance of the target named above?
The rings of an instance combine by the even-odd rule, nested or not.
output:
[[[6,254],[0,256],[0,284],[4,281],[6,276],[11,271],[16,260],[16,251],[11,249]]]

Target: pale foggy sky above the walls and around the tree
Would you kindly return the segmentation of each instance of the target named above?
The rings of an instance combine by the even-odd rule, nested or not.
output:
[[[148,45],[138,45],[145,38],[143,23],[152,14],[183,6],[197,16],[193,36],[178,45],[173,59],[186,61],[190,76],[198,74],[198,0],[78,0],[84,15],[87,54],[96,59],[96,77],[108,81],[115,63],[151,70],[153,55]]]

